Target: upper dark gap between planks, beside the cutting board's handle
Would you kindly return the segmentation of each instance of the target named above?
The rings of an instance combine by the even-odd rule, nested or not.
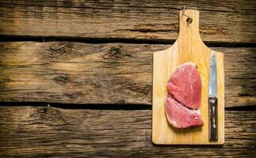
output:
[[[65,36],[5,36],[0,42],[77,42],[77,43],[131,43],[131,44],[173,44],[175,40],[143,40],[126,38],[85,38]],[[204,42],[207,47],[256,47],[255,43]]]

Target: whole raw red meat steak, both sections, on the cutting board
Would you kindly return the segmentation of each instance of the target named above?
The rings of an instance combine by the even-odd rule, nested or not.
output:
[[[168,81],[165,111],[168,123],[176,128],[202,126],[200,111],[201,77],[194,63],[179,66]]]

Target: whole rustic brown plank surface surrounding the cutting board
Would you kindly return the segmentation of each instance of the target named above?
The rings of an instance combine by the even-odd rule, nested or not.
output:
[[[153,145],[152,52],[200,10],[225,56],[225,144]],[[256,2],[0,1],[0,157],[256,156]]]

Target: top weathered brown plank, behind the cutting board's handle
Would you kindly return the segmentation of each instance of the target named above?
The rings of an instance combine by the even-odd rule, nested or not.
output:
[[[255,43],[254,0],[1,1],[0,35],[175,40],[178,13],[199,9],[204,41]]]

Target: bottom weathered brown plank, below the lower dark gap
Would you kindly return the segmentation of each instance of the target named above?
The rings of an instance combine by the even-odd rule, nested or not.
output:
[[[153,145],[151,111],[0,107],[0,156],[253,157],[256,111],[226,111],[223,146]]]

